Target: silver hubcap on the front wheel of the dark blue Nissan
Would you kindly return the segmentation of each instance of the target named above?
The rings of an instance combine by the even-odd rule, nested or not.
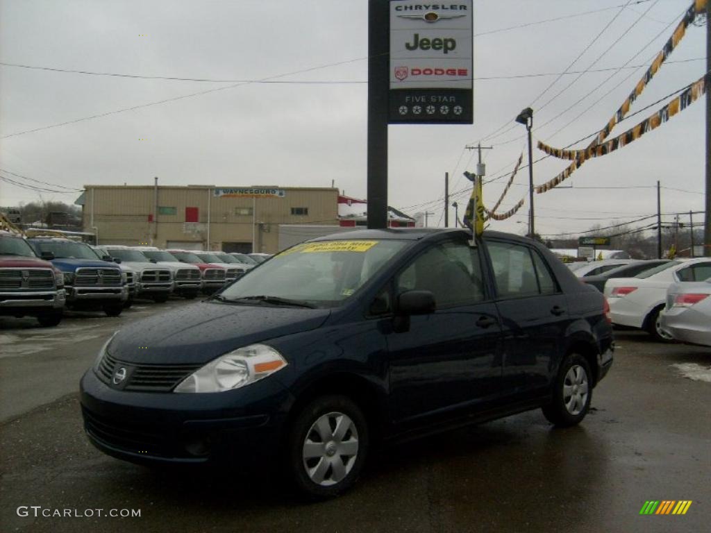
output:
[[[343,413],[319,417],[306,433],[302,458],[304,469],[316,485],[336,485],[351,472],[358,457],[358,429]]]

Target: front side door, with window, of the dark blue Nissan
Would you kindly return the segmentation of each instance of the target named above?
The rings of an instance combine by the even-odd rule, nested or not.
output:
[[[483,407],[501,391],[501,325],[466,240],[431,245],[395,276],[395,292],[427,290],[437,310],[387,335],[390,418],[418,424]],[[403,426],[401,426],[402,428]]]

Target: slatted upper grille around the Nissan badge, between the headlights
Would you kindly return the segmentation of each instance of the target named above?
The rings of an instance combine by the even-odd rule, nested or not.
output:
[[[117,367],[131,367],[129,382],[124,390],[137,392],[170,392],[183,379],[198,370],[202,365],[134,365],[122,362],[111,355],[104,355],[99,364],[99,377],[111,384]]]

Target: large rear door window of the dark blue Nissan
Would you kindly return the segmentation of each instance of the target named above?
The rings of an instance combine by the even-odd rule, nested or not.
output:
[[[488,242],[487,248],[499,296],[516,298],[539,294],[536,271],[528,247],[507,242]]]

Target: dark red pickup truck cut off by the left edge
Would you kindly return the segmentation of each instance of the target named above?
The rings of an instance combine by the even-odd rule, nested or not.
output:
[[[53,264],[36,256],[23,237],[0,231],[0,315],[35,316],[58,325],[65,306],[64,280]]]

